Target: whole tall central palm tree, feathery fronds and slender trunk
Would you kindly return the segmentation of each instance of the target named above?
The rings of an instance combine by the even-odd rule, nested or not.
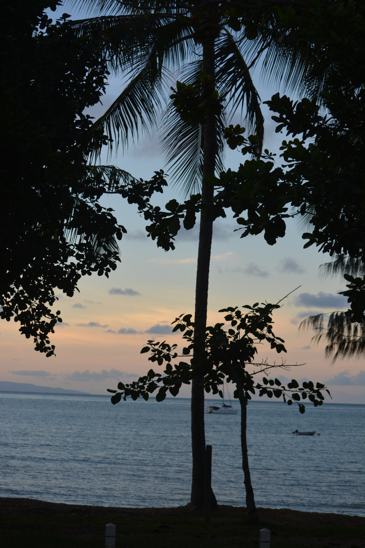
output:
[[[73,5],[88,7],[103,15],[83,21],[75,21],[77,32],[100,32],[109,56],[109,65],[115,73],[121,73],[125,86],[105,114],[95,123],[103,125],[117,145],[126,145],[140,132],[149,132],[159,119],[164,98],[169,92],[171,78],[179,70],[187,83],[198,84],[201,75],[205,83],[201,87],[204,104],[216,90],[224,107],[222,113],[207,113],[200,123],[184,121],[179,113],[167,109],[163,123],[167,136],[164,140],[167,160],[175,184],[186,195],[193,190],[201,192],[202,211],[198,249],[198,267],[195,289],[195,345],[193,364],[204,359],[204,334],[206,328],[208,279],[212,243],[213,221],[210,204],[214,187],[209,175],[223,166],[223,132],[225,116],[233,116],[237,110],[245,113],[248,129],[258,135],[259,146],[263,141],[263,116],[260,99],[250,75],[250,64],[265,53],[269,75],[275,74],[274,60],[279,61],[275,76],[287,81],[294,76],[300,81],[305,71],[303,58],[293,55],[287,46],[278,54],[275,21],[266,12],[265,25],[252,24],[257,34],[255,41],[247,41],[246,28],[240,30],[237,21],[232,24],[228,15],[230,4],[217,0],[176,2],[119,0],[74,0]],[[240,4],[242,9],[244,3]],[[248,8],[254,8],[252,4]],[[247,8],[247,13],[248,13]],[[260,4],[265,10],[265,2]],[[250,14],[248,14],[250,17]],[[232,26],[237,30],[232,30]],[[252,36],[250,37],[252,38]],[[283,41],[281,41],[283,45]],[[245,50],[246,48],[246,50]],[[250,61],[246,61],[245,53]],[[276,65],[277,66],[277,65]],[[191,503],[204,506],[205,433],[204,390],[202,381],[192,383],[192,453],[193,476]]]

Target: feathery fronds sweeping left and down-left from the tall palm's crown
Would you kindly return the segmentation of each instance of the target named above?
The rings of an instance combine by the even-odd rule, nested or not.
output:
[[[149,136],[169,88],[169,67],[176,68],[177,61],[183,63],[191,55],[189,21],[121,15],[74,21],[72,27],[79,36],[97,33],[109,68],[125,82],[123,92],[94,128],[103,128],[117,149],[136,140],[138,134]],[[109,146],[111,151],[112,142]],[[95,155],[100,152],[96,150]]]

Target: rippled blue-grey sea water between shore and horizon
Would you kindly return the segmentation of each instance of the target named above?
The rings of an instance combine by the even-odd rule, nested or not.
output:
[[[218,504],[245,506],[233,406],[237,415],[205,415],[206,443]],[[308,404],[302,415],[294,405],[259,401],[247,412],[257,506],[365,515],[365,406]],[[113,406],[107,396],[0,392],[0,420],[0,496],[125,507],[189,502],[189,399]]]

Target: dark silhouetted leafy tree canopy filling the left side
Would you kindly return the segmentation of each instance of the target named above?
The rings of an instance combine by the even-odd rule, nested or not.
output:
[[[108,276],[120,260],[116,239],[125,229],[100,197],[130,191],[130,201],[148,201],[149,193],[123,170],[88,164],[108,138],[84,110],[100,100],[109,72],[97,35],[77,37],[67,14],[48,17],[44,9],[56,5],[15,0],[1,8],[0,317],[19,322],[47,356],[62,321],[51,309],[55,289],[72,296],[81,276]]]

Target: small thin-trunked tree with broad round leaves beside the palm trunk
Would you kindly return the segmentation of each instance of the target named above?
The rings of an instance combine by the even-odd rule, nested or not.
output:
[[[251,521],[258,521],[247,450],[247,401],[251,399],[251,394],[258,392],[259,396],[283,397],[288,405],[296,402],[300,413],[304,413],[305,406],[301,400],[308,397],[315,407],[321,406],[325,399],[322,391],[327,390],[323,384],[314,385],[312,381],[305,381],[299,386],[293,379],[285,386],[277,378],[267,378],[273,369],[292,367],[283,361],[280,364],[275,361],[269,363],[268,359],[257,361],[257,346],[261,344],[269,343],[271,349],[275,349],[278,354],[286,352],[283,344],[285,341],[273,332],[273,311],[278,308],[279,304],[256,302],[253,306],[245,305],[243,311],[237,306],[220,310],[219,312],[224,313],[224,322],[206,328],[203,339],[204,356],[195,366],[190,354],[194,350],[194,339],[201,337],[201,332],[195,332],[191,314],[182,314],[172,322],[175,324],[173,331],[183,333],[186,346],[181,353],[177,351],[177,344],[153,340],[149,340],[141,350],[141,353],[151,353],[149,361],[164,367],[163,374],[150,369],[147,375],[137,381],[131,384],[119,383],[118,390],[108,390],[113,393],[111,399],[114,404],[127,396],[132,399],[142,396],[148,400],[149,395],[157,390],[157,401],[163,401],[167,393],[177,396],[182,384],[190,384],[198,377],[202,379],[202,389],[208,393],[219,393],[223,397],[224,380],[232,381],[235,385],[234,397],[239,399],[241,406],[242,469],[245,477],[246,507]],[[177,358],[183,359],[176,362]],[[255,375],[259,374],[264,375],[262,383],[255,380]],[[327,392],[329,394],[328,390]]]

